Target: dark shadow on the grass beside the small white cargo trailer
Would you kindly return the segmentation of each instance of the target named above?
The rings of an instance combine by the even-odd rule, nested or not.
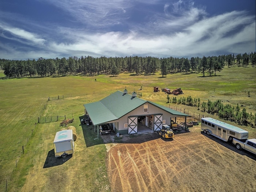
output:
[[[52,149],[48,152],[48,155],[47,155],[46,160],[44,162],[43,168],[49,168],[49,167],[62,165],[66,161],[68,161],[70,158],[72,158],[72,156],[73,156],[73,154],[70,154],[70,155],[66,156],[66,158],[55,157],[54,149]]]

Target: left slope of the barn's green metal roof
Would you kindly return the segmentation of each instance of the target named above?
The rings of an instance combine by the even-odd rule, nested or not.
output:
[[[119,119],[146,102],[138,97],[116,91],[98,102],[84,104],[84,107],[92,123],[98,125]]]

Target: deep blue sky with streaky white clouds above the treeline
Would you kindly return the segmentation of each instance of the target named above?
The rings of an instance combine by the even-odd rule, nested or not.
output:
[[[1,0],[0,58],[256,51],[255,0]]]

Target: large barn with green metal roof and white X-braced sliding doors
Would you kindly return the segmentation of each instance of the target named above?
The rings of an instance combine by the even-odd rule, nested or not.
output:
[[[176,122],[177,117],[187,114],[172,110],[154,102],[146,101],[124,92],[116,91],[98,102],[84,104],[85,113],[94,126],[109,124],[114,132],[136,134],[160,130],[162,124]]]

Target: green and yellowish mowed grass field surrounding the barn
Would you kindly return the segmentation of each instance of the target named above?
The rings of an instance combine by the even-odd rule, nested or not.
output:
[[[224,68],[222,72],[217,72],[218,76],[213,77],[202,77],[202,74],[169,74],[162,78],[160,73],[151,76],[123,73],[115,77],[100,75],[0,80],[0,190],[6,190],[7,181],[9,191],[19,191],[22,186],[28,191],[45,191],[53,185],[54,191],[62,187],[64,180],[71,180],[72,186],[68,185],[71,184],[69,182],[62,189],[108,191],[110,186],[105,166],[106,148],[102,140],[94,140],[96,135],[92,130],[79,126],[79,117],[84,114],[83,104],[98,101],[116,90],[126,88],[132,92],[138,91],[142,86],[143,90],[140,92],[143,99],[165,105],[166,95],[162,92],[154,93],[153,86],[171,89],[181,87],[184,97],[200,98],[201,102],[221,99],[224,103],[243,104],[247,112],[254,114],[255,72],[256,68],[236,67]],[[250,97],[245,90],[250,90]],[[64,100],[47,102],[48,96],[52,98],[63,95]],[[60,122],[35,123],[39,116],[56,115],[75,119],[72,125],[78,133],[76,155],[61,166],[47,167],[45,164],[53,149],[55,133],[62,127],[59,126]],[[250,130],[250,135],[256,136],[254,128],[245,129]],[[33,175],[35,180],[29,177],[31,173],[38,173]],[[32,186],[41,188],[33,189]]]

